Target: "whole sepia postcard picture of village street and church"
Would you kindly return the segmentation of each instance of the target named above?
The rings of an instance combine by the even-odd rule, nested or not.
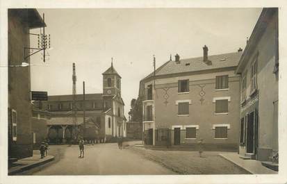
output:
[[[8,178],[281,172],[278,6],[3,13]]]

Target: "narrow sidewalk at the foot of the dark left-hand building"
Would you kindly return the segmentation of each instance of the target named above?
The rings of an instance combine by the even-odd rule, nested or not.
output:
[[[44,165],[45,163],[52,160],[54,160],[54,156],[46,156],[41,159],[40,155],[33,154],[31,157],[23,158],[21,160],[17,160],[17,162],[13,162],[12,167],[8,169],[8,175],[24,172],[27,169],[38,167],[39,165]]]

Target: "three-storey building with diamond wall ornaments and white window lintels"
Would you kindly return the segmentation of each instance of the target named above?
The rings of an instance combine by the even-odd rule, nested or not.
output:
[[[234,53],[165,62],[140,81],[145,144],[238,147],[239,81]]]

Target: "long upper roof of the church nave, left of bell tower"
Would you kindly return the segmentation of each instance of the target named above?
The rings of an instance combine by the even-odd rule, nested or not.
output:
[[[83,94],[76,94],[76,100],[82,100]],[[103,94],[101,93],[95,93],[95,94],[85,94],[85,100],[101,100],[103,99]],[[72,101],[73,95],[67,94],[67,95],[53,95],[48,96],[48,101]]]

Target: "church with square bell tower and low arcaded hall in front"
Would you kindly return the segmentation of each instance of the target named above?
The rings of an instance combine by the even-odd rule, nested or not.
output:
[[[41,119],[42,115],[42,118],[47,119],[49,142],[65,144],[75,140],[77,134],[82,135],[85,140],[99,142],[126,137],[126,117],[121,96],[122,77],[113,63],[102,76],[103,93],[85,94],[85,100],[83,94],[76,94],[75,101],[73,94],[67,94],[48,96],[47,101],[34,102],[37,108],[33,108],[33,117]]]

